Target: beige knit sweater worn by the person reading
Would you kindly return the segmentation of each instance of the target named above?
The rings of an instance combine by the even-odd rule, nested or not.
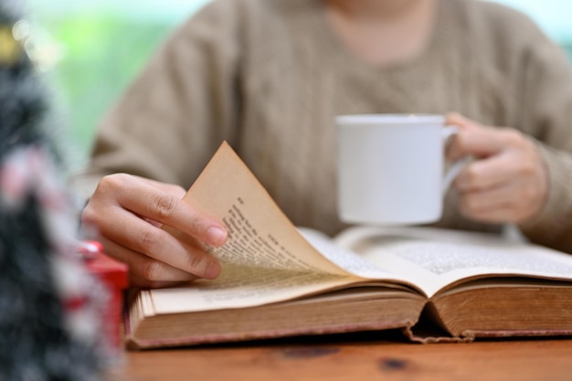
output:
[[[296,225],[334,234],[334,115],[458,111],[538,140],[550,195],[524,233],[572,252],[572,74],[526,17],[501,5],[441,0],[429,46],[375,67],[352,56],[321,0],[216,0],[176,30],[101,123],[90,195],[127,172],[188,187],[223,139]],[[423,190],[420,189],[420,192]],[[437,224],[498,231],[460,216],[454,192]]]

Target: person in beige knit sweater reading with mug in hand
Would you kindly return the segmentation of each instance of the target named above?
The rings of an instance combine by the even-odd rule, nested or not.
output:
[[[335,234],[334,116],[384,112],[447,114],[461,126],[449,158],[477,158],[436,226],[510,223],[572,252],[569,63],[526,16],[474,0],[211,2],[101,123],[75,178],[82,221],[135,285],[216,278],[200,245],[157,227],[224,243],[220,222],[180,201],[222,140],[294,224]]]

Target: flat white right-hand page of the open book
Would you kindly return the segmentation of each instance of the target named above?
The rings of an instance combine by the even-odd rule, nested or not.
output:
[[[402,274],[430,297],[465,278],[530,276],[572,280],[572,256],[484,233],[440,228],[351,228],[336,243]]]

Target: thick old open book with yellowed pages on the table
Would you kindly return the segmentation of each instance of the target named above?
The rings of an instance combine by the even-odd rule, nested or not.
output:
[[[138,291],[130,348],[402,328],[412,340],[572,334],[572,256],[438,228],[296,228],[227,143],[185,202],[229,231],[217,280]],[[440,335],[420,336],[430,322]]]

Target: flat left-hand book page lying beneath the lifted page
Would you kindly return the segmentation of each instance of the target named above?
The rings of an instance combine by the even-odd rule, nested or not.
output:
[[[280,267],[252,265],[248,261],[246,264],[238,261],[222,262],[223,271],[216,280],[197,280],[185,288],[152,291],[154,312],[196,312],[251,307],[330,291],[366,279],[396,281],[418,290],[407,278],[382,270],[354,252],[334,245],[334,241],[325,234],[309,228],[299,230],[302,237],[325,258],[353,275],[285,270]],[[250,249],[254,249],[251,253],[257,256],[257,249],[260,248]]]

